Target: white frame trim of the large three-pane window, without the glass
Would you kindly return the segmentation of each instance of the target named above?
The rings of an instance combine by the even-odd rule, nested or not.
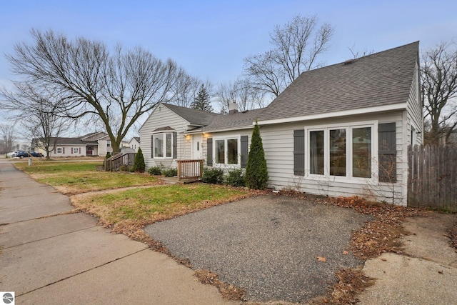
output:
[[[371,127],[371,178],[353,177],[353,147],[352,147],[352,130],[363,127]],[[328,147],[328,137],[331,129],[346,129],[346,176],[331,176],[330,175],[330,147]],[[324,131],[324,174],[311,174],[311,158],[309,156],[310,149],[310,131]],[[351,141],[348,144],[348,140]],[[347,183],[360,184],[361,182],[369,182],[370,184],[378,184],[378,121],[358,121],[346,124],[326,124],[305,127],[305,176],[318,181],[340,181]]]

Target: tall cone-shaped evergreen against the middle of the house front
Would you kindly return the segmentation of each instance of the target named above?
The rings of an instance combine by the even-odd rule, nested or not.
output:
[[[265,189],[268,181],[265,152],[263,151],[262,138],[258,125],[252,131],[251,146],[249,148],[248,164],[244,179],[249,189]]]

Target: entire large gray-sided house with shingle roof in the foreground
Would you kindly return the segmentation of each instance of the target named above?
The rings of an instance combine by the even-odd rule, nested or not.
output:
[[[268,186],[406,205],[408,145],[423,141],[418,42],[304,72],[266,108],[160,104],[140,129],[146,166],[246,166],[257,121]],[[153,154],[154,152],[154,154]]]

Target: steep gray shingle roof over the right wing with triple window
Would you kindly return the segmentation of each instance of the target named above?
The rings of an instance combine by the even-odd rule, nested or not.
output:
[[[418,41],[303,72],[258,119],[286,119],[405,103],[418,59]]]

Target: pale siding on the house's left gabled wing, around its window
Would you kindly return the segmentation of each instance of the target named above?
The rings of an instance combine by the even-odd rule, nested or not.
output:
[[[190,158],[190,150],[186,151],[186,145],[184,144],[186,141],[190,141],[191,139],[190,136],[187,136],[189,139],[186,139],[186,136],[183,134],[183,132],[187,129],[189,122],[165,106],[159,107],[160,108],[154,109],[154,112],[144,122],[139,131],[141,139],[141,150],[143,151],[146,169],[152,166],[163,166],[164,168],[176,167],[177,159],[186,159],[187,156]],[[177,156],[176,158],[174,157],[174,159],[153,159],[151,158],[151,136],[154,130],[166,126],[169,126],[174,129],[174,131],[176,131]]]

